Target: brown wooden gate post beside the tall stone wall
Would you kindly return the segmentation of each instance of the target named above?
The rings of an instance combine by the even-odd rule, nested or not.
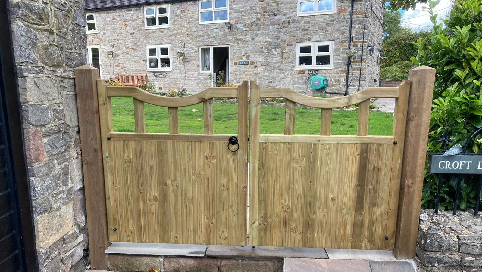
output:
[[[106,249],[110,243],[107,237],[106,194],[97,98],[99,70],[83,65],[75,68],[74,74],[91,269],[107,270]]]

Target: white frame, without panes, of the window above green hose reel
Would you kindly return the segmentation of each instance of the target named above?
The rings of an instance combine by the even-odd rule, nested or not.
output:
[[[303,46],[311,46],[310,53],[300,53],[300,48]],[[329,45],[328,52],[318,52],[319,45]],[[335,41],[310,41],[310,42],[298,42],[296,43],[296,59],[295,70],[307,70],[307,69],[333,69],[333,51],[335,47]],[[300,56],[311,56],[311,65],[299,65]],[[316,56],[330,56],[330,65],[316,65]]]

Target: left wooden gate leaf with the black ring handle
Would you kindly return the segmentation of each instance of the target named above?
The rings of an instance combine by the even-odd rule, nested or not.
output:
[[[97,81],[111,242],[245,245],[248,82],[163,97]],[[111,97],[134,98],[135,133],[112,128]],[[213,98],[238,98],[238,142],[214,134]],[[144,103],[169,108],[169,134],[146,133]],[[179,134],[178,107],[204,104],[204,134]]]

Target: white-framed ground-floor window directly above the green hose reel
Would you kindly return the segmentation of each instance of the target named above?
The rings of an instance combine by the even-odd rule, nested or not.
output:
[[[296,69],[332,69],[335,41],[296,43]]]

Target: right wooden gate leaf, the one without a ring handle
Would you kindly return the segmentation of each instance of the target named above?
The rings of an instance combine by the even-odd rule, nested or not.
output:
[[[392,250],[409,91],[314,98],[251,81],[250,245]],[[259,134],[261,98],[286,100],[284,135]],[[392,136],[367,136],[371,98],[396,98]],[[294,135],[295,103],[321,108],[320,135]],[[353,104],[357,135],[330,135],[332,108]]]

